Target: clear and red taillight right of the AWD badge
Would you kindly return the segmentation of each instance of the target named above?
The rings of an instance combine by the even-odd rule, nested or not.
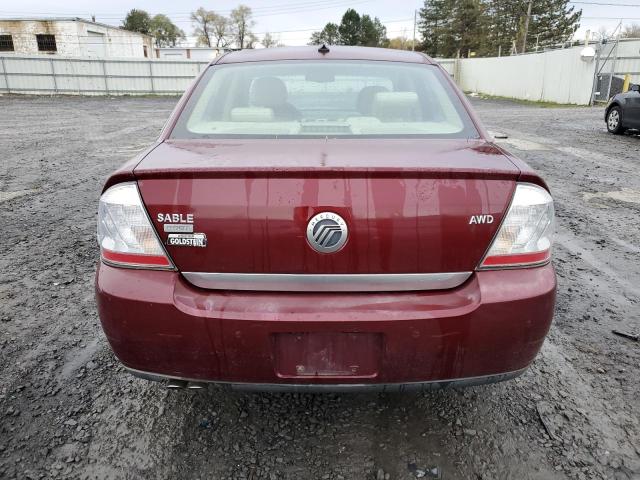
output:
[[[551,258],[554,208],[544,188],[519,183],[480,268],[541,265]]]

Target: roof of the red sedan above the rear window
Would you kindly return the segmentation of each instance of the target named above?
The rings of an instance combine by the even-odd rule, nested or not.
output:
[[[387,62],[434,64],[427,55],[391,48],[348,47],[329,45],[327,53],[320,53],[320,46],[276,47],[245,49],[227,53],[214,59],[212,64],[267,62],[277,60],[374,60]]]

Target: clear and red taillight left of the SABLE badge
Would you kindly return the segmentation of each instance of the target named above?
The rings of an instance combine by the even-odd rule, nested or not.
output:
[[[156,235],[135,183],[120,183],[100,197],[98,244],[105,263],[122,267],[173,269]]]

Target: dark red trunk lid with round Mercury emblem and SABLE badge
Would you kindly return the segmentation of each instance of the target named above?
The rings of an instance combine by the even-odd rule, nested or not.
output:
[[[179,270],[266,274],[472,271],[519,173],[483,140],[411,139],[167,141],[134,171],[165,245],[206,238],[167,245]],[[307,241],[321,212],[347,224],[337,252]]]

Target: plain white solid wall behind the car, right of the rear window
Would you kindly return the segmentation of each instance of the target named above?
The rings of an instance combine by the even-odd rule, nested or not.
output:
[[[528,55],[460,59],[456,79],[465,91],[521,100],[587,105],[595,62],[582,47]]]

